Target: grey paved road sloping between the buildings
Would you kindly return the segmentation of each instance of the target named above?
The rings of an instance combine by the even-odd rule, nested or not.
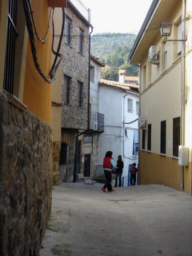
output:
[[[63,183],[40,256],[191,256],[192,197],[163,185]]]

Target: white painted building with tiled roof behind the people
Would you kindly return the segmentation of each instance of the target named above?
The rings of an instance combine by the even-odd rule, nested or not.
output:
[[[127,186],[130,166],[138,163],[138,85],[101,79],[99,82],[99,112],[104,114],[104,132],[98,139],[97,175],[102,173],[105,152],[111,150],[116,162],[122,155],[123,186]],[[123,124],[124,122],[124,124]]]

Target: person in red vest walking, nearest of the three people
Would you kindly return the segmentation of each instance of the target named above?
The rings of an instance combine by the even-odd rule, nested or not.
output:
[[[104,169],[104,175],[106,178],[106,182],[103,185],[103,187],[101,187],[101,190],[103,192],[106,192],[105,188],[107,187],[108,192],[113,192],[114,189],[112,189],[111,186],[111,180],[112,180],[112,168],[116,168],[113,159],[112,159],[112,152],[111,151],[107,151],[105,153],[105,157],[103,159],[103,169]]]

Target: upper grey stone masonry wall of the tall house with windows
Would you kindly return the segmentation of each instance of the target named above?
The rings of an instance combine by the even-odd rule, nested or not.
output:
[[[66,18],[70,19],[70,34],[78,35],[79,27],[83,32],[82,54],[78,52],[78,36],[70,37],[70,45],[63,43],[62,60],[62,119],[61,127],[87,129],[88,112],[88,57],[89,37],[88,26],[70,8],[65,10]],[[87,36],[84,36],[87,35]],[[63,102],[64,75],[69,79],[69,103]],[[77,81],[82,83],[81,107],[77,106]]]

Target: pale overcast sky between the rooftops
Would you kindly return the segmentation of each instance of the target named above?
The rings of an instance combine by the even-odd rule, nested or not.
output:
[[[81,0],[91,9],[93,33],[138,33],[152,0]]]

